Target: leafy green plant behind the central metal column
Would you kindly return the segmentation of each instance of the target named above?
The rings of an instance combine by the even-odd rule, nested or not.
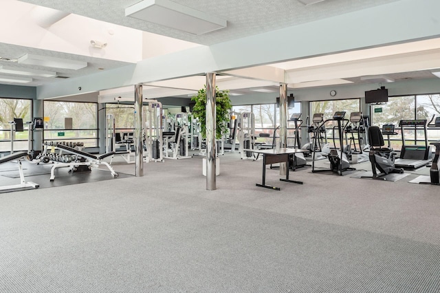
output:
[[[191,100],[195,102],[195,105],[192,108],[192,115],[199,119],[201,136],[206,138],[206,85],[203,87],[203,89],[199,89],[197,96],[193,96]],[[215,87],[215,137],[217,139],[220,139],[221,133],[224,133],[228,129],[230,109],[232,109],[232,104],[229,98],[229,91],[219,91],[219,88]]]

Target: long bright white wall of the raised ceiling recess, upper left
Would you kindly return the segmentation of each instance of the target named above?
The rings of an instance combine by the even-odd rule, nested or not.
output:
[[[21,1],[1,0],[0,39],[3,43],[131,63],[142,60],[140,30],[76,14],[43,28],[38,24],[39,16],[34,14],[34,7]],[[91,40],[107,43],[107,47],[91,47]]]

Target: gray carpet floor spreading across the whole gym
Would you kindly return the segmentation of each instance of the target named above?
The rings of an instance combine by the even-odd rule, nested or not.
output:
[[[440,186],[417,172],[267,169],[272,191],[261,161],[220,161],[216,191],[195,157],[0,194],[0,292],[440,292]]]

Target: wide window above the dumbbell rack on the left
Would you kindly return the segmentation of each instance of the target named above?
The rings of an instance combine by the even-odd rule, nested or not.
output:
[[[92,102],[43,102],[45,141],[83,142],[98,146],[97,104]],[[72,128],[66,118],[72,118]]]

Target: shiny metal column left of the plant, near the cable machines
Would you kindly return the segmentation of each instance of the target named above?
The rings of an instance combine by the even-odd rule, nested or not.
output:
[[[135,175],[144,176],[144,145],[142,144],[142,85],[135,85]]]

